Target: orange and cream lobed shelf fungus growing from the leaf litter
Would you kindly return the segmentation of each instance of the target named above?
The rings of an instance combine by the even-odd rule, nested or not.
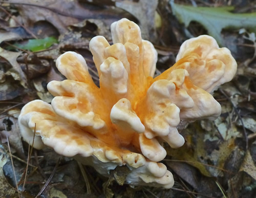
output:
[[[103,174],[126,165],[125,182],[170,188],[173,175],[159,163],[163,143],[184,144],[177,126],[216,119],[220,104],[210,93],[236,73],[237,63],[216,40],[202,35],[185,41],[177,62],[153,78],[157,52],[139,27],[121,19],[111,25],[113,45],[102,36],[90,42],[100,87],[75,52],[56,60],[67,80],[51,81],[51,104],[34,100],[19,116],[23,138],[34,147],[52,147],[63,156],[92,165]]]

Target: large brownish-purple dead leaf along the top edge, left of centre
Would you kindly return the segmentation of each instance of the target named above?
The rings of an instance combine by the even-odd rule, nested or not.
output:
[[[78,0],[26,0],[26,4],[21,4],[19,0],[10,0],[9,3],[18,7],[19,13],[25,26],[30,27],[37,21],[48,21],[60,34],[67,32],[68,26],[77,24],[84,19],[102,19],[108,16],[112,22],[122,18],[123,13],[119,16],[113,14],[116,10],[92,9],[89,5],[81,6]],[[111,23],[112,23],[111,22]]]

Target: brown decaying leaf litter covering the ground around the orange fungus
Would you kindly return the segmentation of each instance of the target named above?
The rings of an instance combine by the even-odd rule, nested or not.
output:
[[[239,1],[227,4],[171,1],[169,4],[167,0],[10,0],[0,4],[5,10],[0,14],[3,21],[0,24],[2,196],[253,197],[256,194],[256,45],[254,26],[251,26],[255,13],[230,13],[233,8],[238,12],[246,9],[250,6],[248,2],[240,5]],[[199,18],[202,14],[204,17]],[[32,150],[20,139],[17,116],[22,106],[38,98],[50,102],[52,96],[46,89],[47,83],[64,79],[55,67],[60,54],[80,53],[98,84],[89,41],[102,35],[112,42],[109,26],[122,17],[138,23],[143,38],[154,43],[159,52],[158,74],[175,62],[184,39],[204,31],[203,27],[191,24],[194,20],[223,46],[231,46],[238,61],[236,78],[214,93],[222,105],[222,115],[216,121],[190,123],[181,131],[185,145],[179,149],[166,147],[163,163],[175,177],[175,185],[169,190],[123,184],[129,171],[125,167],[118,167],[109,179],[104,178],[93,168],[58,156],[49,148]],[[229,19],[223,20],[226,17]]]

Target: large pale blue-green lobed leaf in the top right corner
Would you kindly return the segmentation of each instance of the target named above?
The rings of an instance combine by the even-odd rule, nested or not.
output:
[[[256,13],[231,13],[233,7],[192,7],[178,5],[173,1],[170,2],[170,5],[180,23],[184,23],[188,27],[191,21],[197,21],[222,46],[224,46],[224,41],[221,31],[224,28],[246,28],[251,32],[256,32]]]

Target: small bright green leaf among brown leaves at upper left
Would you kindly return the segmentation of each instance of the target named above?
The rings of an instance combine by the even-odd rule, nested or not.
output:
[[[17,46],[20,49],[36,52],[40,50],[45,50],[57,42],[58,40],[54,37],[46,37],[42,39],[30,39],[26,44],[15,43],[14,46]]]

